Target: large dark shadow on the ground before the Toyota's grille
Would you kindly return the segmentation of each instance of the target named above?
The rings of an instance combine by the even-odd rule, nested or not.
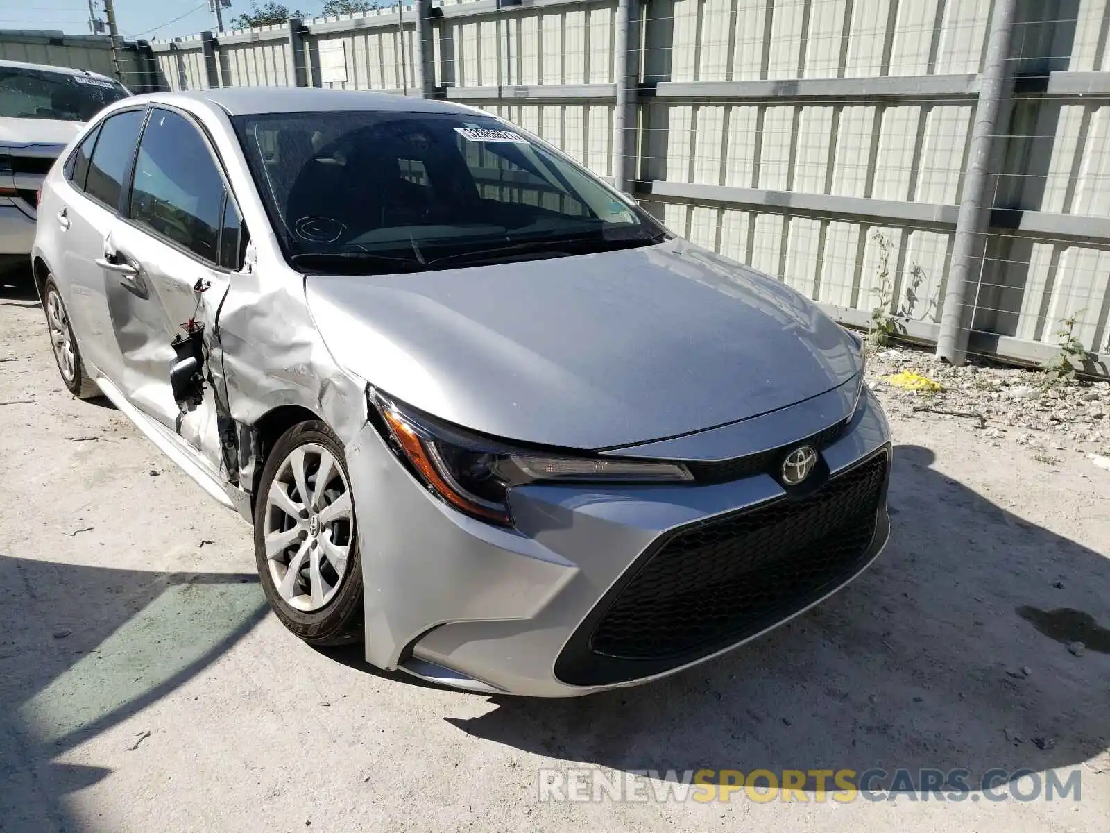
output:
[[[481,716],[446,720],[526,752],[625,771],[928,767],[975,777],[1104,752],[1107,555],[932,463],[928,449],[895,450],[882,555],[767,636],[654,684],[491,697],[496,707]],[[1074,640],[1087,641],[1080,656],[1066,648]]]

